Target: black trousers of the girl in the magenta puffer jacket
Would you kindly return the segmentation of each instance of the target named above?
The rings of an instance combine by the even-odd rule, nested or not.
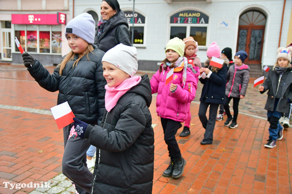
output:
[[[180,148],[178,147],[178,142],[175,139],[175,134],[178,131],[179,124],[179,121],[161,118],[164,141],[167,144],[167,149],[169,153],[168,156],[171,158],[171,160],[180,159],[182,157],[180,153]]]

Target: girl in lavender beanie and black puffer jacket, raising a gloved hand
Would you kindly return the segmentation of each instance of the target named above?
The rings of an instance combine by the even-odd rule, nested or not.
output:
[[[65,36],[72,49],[50,75],[41,63],[27,52],[23,63],[30,75],[48,91],[58,91],[58,104],[68,102],[76,117],[87,123],[101,123],[105,107],[105,78],[102,77],[101,59],[104,52],[93,45],[95,22],[88,13],[82,13],[68,22]],[[78,193],[89,193],[92,173],[86,166],[88,140],[71,131],[70,124],[63,128],[65,151],[62,172]],[[73,184],[72,182],[72,184]]]

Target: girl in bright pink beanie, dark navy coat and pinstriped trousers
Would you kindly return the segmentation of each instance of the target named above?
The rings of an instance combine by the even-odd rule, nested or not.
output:
[[[224,93],[226,84],[228,59],[225,59],[221,68],[210,66],[212,57],[220,58],[220,49],[216,42],[211,43],[207,49],[208,59],[205,62],[206,68],[200,69],[200,82],[204,84],[200,98],[199,119],[205,128],[202,145],[213,143],[213,131],[216,122],[216,114],[219,104],[224,103]],[[206,117],[207,108],[209,108],[209,119]]]

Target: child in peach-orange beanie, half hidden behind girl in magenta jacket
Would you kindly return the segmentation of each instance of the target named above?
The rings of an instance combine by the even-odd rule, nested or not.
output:
[[[202,64],[199,57],[197,57],[196,54],[196,52],[198,52],[199,50],[198,43],[194,40],[192,36],[190,36],[189,38],[184,38],[183,41],[185,43],[184,57],[188,59],[188,64],[192,65],[192,72],[194,74],[196,73],[199,74],[199,70],[202,67]],[[183,128],[183,131],[180,133],[180,137],[187,137],[188,135],[191,134],[190,132],[191,118],[192,118],[191,110],[189,110],[187,112],[187,120],[185,120],[185,126]]]

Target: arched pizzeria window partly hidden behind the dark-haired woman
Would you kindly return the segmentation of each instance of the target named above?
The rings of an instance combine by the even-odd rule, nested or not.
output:
[[[133,11],[124,11],[125,16],[128,20],[130,34],[132,36],[132,28],[133,28]],[[133,38],[133,46],[141,47],[145,46],[145,17],[140,13],[134,13],[134,38]]]

